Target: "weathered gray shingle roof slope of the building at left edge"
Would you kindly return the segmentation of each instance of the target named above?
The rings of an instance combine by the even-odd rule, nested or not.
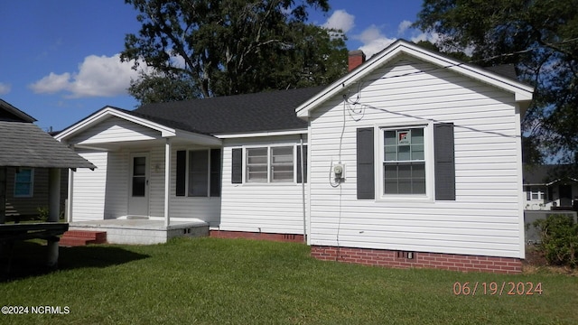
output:
[[[37,125],[0,121],[0,166],[96,168]]]

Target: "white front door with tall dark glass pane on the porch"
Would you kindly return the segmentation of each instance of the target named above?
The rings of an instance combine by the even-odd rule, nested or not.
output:
[[[148,217],[148,153],[131,153],[128,215]]]

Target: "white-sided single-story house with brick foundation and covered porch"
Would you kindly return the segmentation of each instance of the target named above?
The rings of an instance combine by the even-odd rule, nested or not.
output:
[[[98,166],[70,178],[70,218],[202,220],[211,236],[306,235],[321,259],[519,272],[533,88],[405,41],[350,70],[326,88],[99,110],[56,136]]]

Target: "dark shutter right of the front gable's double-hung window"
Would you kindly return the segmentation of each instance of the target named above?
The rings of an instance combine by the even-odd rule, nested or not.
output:
[[[433,125],[435,200],[455,200],[453,123]]]

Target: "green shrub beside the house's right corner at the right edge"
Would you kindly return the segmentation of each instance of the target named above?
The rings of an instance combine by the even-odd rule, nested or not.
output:
[[[578,264],[578,224],[569,215],[550,215],[536,220],[542,243],[538,246],[551,265]]]

